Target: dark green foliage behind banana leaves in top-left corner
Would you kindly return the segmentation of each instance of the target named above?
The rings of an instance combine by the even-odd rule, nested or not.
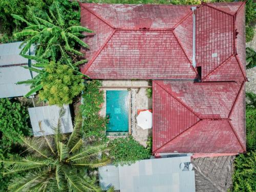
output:
[[[0,42],[10,42],[17,40],[12,37],[15,32],[21,31],[26,27],[25,23],[15,19],[11,14],[23,15],[29,22],[33,21],[33,15],[47,19],[48,8],[51,7],[53,0],[2,0],[0,1],[0,20],[2,24],[1,32],[5,35]],[[65,26],[80,25],[80,7],[76,1],[58,0]],[[20,38],[18,40],[24,40]]]

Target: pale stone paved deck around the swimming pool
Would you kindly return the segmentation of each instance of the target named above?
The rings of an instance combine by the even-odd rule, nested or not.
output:
[[[148,137],[152,136],[152,129],[143,130],[137,126],[136,117],[137,110],[152,109],[152,99],[147,98],[146,88],[132,88],[132,87],[146,87],[150,82],[147,80],[103,80],[102,87],[127,87],[127,88],[101,88],[104,91],[104,103],[100,111],[101,116],[106,115],[106,90],[128,90],[130,100],[129,113],[129,134],[132,134],[134,139],[143,146],[146,146]],[[120,136],[109,136],[116,138]]]

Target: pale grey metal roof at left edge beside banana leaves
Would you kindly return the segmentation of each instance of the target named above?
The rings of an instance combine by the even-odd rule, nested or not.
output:
[[[19,55],[22,42],[0,45],[0,98],[24,96],[30,91],[28,84],[16,84],[18,81],[31,79],[28,69],[21,66],[10,66],[28,63],[28,59]],[[31,52],[34,54],[34,49]],[[33,76],[36,75],[33,73]]]

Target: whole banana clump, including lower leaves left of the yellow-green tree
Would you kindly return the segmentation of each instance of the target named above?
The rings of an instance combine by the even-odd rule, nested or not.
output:
[[[31,84],[31,91],[26,96],[42,89],[40,82],[46,73],[41,69],[44,69],[50,61],[58,61],[63,65],[70,66],[76,75],[81,75],[78,69],[79,65],[87,62],[82,58],[83,54],[78,51],[80,46],[89,48],[85,42],[80,40],[80,37],[84,37],[80,32],[92,33],[93,31],[81,26],[66,27],[62,18],[63,14],[56,1],[50,7],[49,13],[50,16],[46,13],[47,20],[32,15],[32,22],[12,14],[15,19],[28,25],[23,31],[15,33],[15,37],[27,37],[20,45],[22,47],[20,55],[37,61],[32,67],[25,67],[38,73],[32,80],[21,82]],[[32,45],[36,47],[35,55],[30,55]]]

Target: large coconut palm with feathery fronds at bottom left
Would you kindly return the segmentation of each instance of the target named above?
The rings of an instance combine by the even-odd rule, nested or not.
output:
[[[61,117],[64,114],[62,108],[53,128],[53,141],[45,135],[39,140],[23,137],[28,151],[34,153],[1,161],[6,167],[4,175],[26,173],[24,177],[14,177],[8,187],[10,191],[101,191],[95,179],[88,176],[88,170],[109,162],[108,158],[100,158],[106,147],[89,146],[83,142],[80,138],[81,118],[75,119],[74,131],[65,142],[61,134]],[[40,122],[39,127],[41,129]]]

